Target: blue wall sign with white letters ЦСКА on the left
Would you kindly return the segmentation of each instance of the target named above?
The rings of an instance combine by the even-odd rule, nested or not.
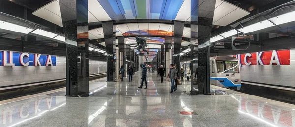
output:
[[[0,66],[56,66],[56,56],[0,51]]]

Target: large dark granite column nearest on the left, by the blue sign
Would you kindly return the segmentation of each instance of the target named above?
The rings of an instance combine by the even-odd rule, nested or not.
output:
[[[89,93],[88,0],[59,0],[66,44],[66,96]]]

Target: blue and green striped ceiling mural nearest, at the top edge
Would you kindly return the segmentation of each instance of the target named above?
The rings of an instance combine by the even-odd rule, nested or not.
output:
[[[98,0],[112,20],[174,20],[184,0]]]

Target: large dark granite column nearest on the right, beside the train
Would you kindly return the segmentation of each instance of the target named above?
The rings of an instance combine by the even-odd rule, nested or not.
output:
[[[191,41],[198,39],[198,92],[192,91],[199,95],[210,94],[210,36],[215,2],[216,0],[198,0],[198,3],[196,0],[191,1]]]

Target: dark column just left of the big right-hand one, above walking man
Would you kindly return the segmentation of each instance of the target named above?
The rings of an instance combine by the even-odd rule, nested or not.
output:
[[[182,42],[184,22],[182,21],[174,21],[173,22],[173,55],[172,55],[172,63],[174,63],[180,72],[180,48]]]

